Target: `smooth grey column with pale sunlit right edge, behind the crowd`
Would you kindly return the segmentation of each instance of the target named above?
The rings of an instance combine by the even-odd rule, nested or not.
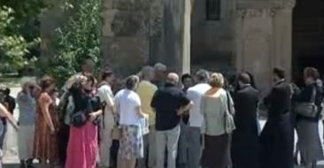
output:
[[[170,71],[189,73],[190,0],[164,0],[163,57]]]

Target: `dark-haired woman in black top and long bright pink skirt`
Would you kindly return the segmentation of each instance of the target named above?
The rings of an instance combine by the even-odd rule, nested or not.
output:
[[[98,152],[97,121],[101,114],[100,100],[93,93],[92,75],[77,78],[71,88],[74,109],[66,152],[66,168],[96,168]]]

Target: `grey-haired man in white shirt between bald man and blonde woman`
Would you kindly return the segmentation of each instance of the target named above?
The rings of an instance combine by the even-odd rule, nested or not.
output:
[[[200,111],[200,101],[204,93],[212,88],[207,80],[209,73],[206,70],[199,70],[196,73],[197,85],[188,89],[187,96],[194,103],[189,111],[189,158],[188,168],[197,168],[200,165],[202,154],[200,130],[203,125],[204,116]]]

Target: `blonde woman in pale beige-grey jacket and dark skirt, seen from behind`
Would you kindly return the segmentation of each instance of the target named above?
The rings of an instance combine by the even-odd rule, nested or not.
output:
[[[209,84],[212,88],[203,95],[200,107],[204,116],[202,166],[226,168],[230,164],[230,134],[235,129],[233,101],[223,89],[224,77],[221,73],[212,73]]]

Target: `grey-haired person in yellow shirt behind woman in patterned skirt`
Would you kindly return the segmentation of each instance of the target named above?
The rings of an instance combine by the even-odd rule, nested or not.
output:
[[[138,160],[138,168],[152,168],[156,166],[156,140],[155,140],[155,112],[150,102],[158,88],[151,83],[154,79],[154,68],[144,66],[141,71],[142,81],[138,85],[137,94],[141,98],[142,111],[149,116],[149,134],[143,136],[144,158]],[[146,165],[147,163],[147,165]]]

